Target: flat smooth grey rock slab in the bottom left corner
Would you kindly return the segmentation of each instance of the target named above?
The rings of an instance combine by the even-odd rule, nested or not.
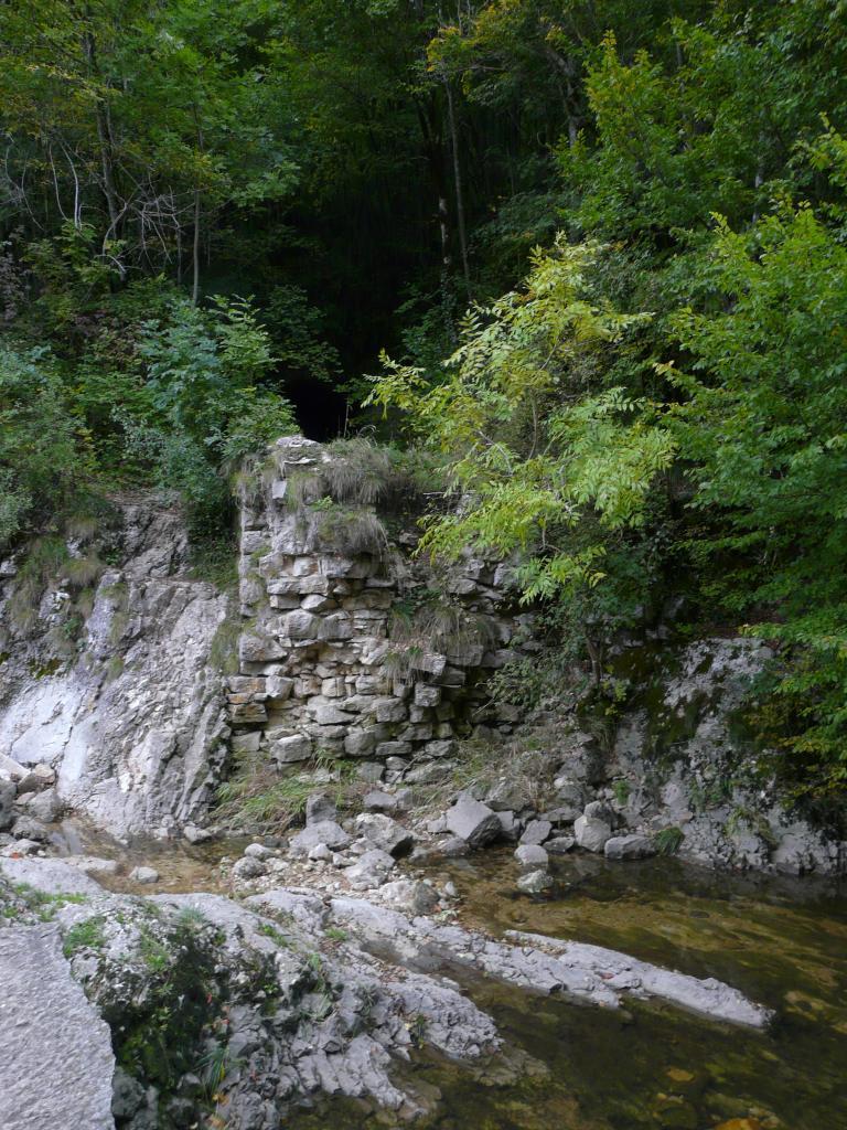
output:
[[[71,976],[55,925],[0,930],[0,1125],[110,1130],[107,1025]]]

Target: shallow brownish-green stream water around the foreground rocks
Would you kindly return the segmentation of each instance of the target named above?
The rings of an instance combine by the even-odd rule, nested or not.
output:
[[[128,869],[147,863],[161,875],[156,889],[175,892],[222,889],[218,862],[243,845],[122,846],[86,836],[81,846],[122,860],[123,873],[104,880],[113,889],[133,889]],[[556,863],[553,897],[535,902],[516,894],[509,851],[428,870],[453,879],[465,925],[573,938],[716,976],[777,1015],[757,1033],[671,1006],[604,1010],[469,980],[519,1079],[504,1081],[499,1063],[469,1069],[420,1053],[402,1068],[431,1110],[420,1130],[847,1130],[844,887],[716,875],[665,858],[573,855]],[[395,1124],[349,1101],[286,1121],[288,1130]]]

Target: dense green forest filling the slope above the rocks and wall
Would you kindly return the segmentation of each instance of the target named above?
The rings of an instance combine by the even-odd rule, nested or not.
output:
[[[425,452],[425,547],[519,551],[561,653],[770,641],[838,803],[846,106],[840,0],[0,6],[0,548],[156,488],[226,551],[270,438]]]

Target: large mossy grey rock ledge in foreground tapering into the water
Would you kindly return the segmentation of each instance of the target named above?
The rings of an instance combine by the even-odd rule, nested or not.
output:
[[[374,850],[356,866],[390,873],[395,861]],[[540,884],[549,878],[539,870],[532,876],[540,876]],[[424,915],[437,907],[437,895],[418,880],[399,879],[383,887],[376,897],[390,905],[286,888],[254,895],[242,905],[208,894],[114,895],[56,860],[0,860],[0,878],[52,894],[81,896],[54,901],[55,925],[0,930],[0,967],[3,939],[12,932],[54,931],[54,954],[61,933],[75,975],[110,1018],[119,1052],[137,1035],[155,1040],[172,1062],[183,1064],[181,1081],[165,1084],[156,1075],[154,1059],[122,1058],[130,1072],[115,1079],[114,1109],[122,1119],[147,1119],[147,1112],[158,1106],[178,1114],[181,1124],[202,1121],[209,1113],[202,1106],[208,1095],[191,1072],[212,1045],[230,1064],[216,1088],[216,1114],[232,1130],[250,1130],[264,1122],[282,1124],[291,1102],[318,1090],[368,1098],[388,1111],[402,1111],[403,1118],[420,1113],[420,1102],[392,1071],[395,1060],[408,1057],[414,1042],[457,1060],[488,1058],[499,1046],[491,1018],[454,981],[426,972],[433,968],[453,977],[473,971],[518,989],[564,993],[610,1008],[627,994],[655,996],[753,1027],[769,1017],[766,1009],[714,979],[700,981],[602,947],[518,932],[496,940],[428,919]],[[0,899],[9,897],[9,890],[0,883]],[[543,893],[543,887],[536,893]],[[402,905],[405,913],[391,904]],[[29,914],[28,921],[35,913],[21,903],[12,910],[12,914]],[[33,948],[32,937],[27,935],[27,951]],[[47,1012],[52,998],[42,992],[42,957],[37,956],[38,972],[25,982],[37,986]],[[8,981],[5,977],[3,983]],[[158,1002],[154,1017],[151,991]],[[197,1001],[200,1010],[183,1012],[185,999]],[[89,1035],[96,1034],[97,1024],[101,1031],[105,1027],[94,1015]],[[414,1018],[413,1026],[410,1018]],[[59,1019],[55,1038],[61,1040],[61,1015]],[[20,1040],[18,1033],[3,1042],[7,1057],[10,1048],[15,1054],[15,1040]],[[86,1122],[85,1111],[77,1113],[86,1095],[94,1093],[87,1085],[89,1058],[84,1062],[79,1058],[79,1048],[87,1046],[76,1042],[73,1053],[59,1057],[55,1064],[54,1057],[42,1058],[37,1070],[33,1066],[24,1072],[41,1090],[49,1089],[43,1085],[45,1071],[67,1067],[75,1074],[76,1083],[63,1086],[60,1096],[63,1110],[73,1113],[73,1122],[54,1114],[43,1130],[69,1124],[75,1130],[111,1130],[107,1107],[99,1121]],[[108,1062],[101,1061],[103,1054]],[[97,1066],[101,1102],[112,1098],[111,1054],[106,1034],[102,1049],[90,1057]],[[158,1094],[151,1090],[154,1086]],[[15,1086],[0,1094],[2,1113],[10,1093],[15,1095]],[[259,1114],[264,1122],[255,1122]],[[19,1124],[7,1118],[0,1124],[3,1130],[7,1125],[42,1130],[37,1121]],[[149,1124],[156,1125],[155,1120]]]

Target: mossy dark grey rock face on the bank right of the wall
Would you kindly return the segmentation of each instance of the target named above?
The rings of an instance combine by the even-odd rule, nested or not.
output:
[[[647,837],[695,863],[844,873],[847,843],[787,810],[744,724],[770,655],[760,641],[717,636],[621,649],[613,663],[626,705],[611,721],[608,699],[582,712],[592,732],[576,733],[557,765],[564,794],[577,783],[585,814],[600,801],[610,834]]]

